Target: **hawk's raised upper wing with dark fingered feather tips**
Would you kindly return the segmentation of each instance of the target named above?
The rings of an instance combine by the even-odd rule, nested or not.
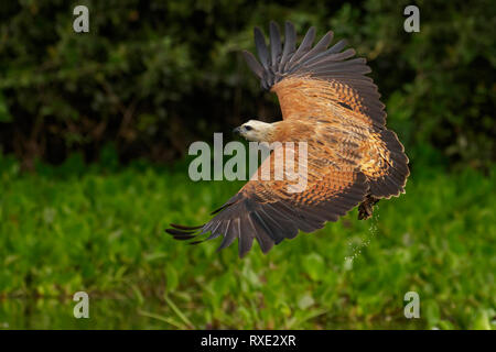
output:
[[[260,29],[255,29],[255,43],[261,64],[244,51],[249,67],[260,78],[261,86],[278,95],[282,116],[315,117],[332,114],[343,108],[356,112],[356,118],[369,125],[382,127],[386,122],[384,103],[370,77],[366,59],[353,58],[355,50],[347,48],[342,40],[327,46],[333,32],[327,32],[312,47],[315,29],[311,28],[296,48],[296,34],[291,22],[285,23],[285,42],[281,48],[279,28],[270,23],[270,53]],[[315,113],[316,112],[316,113]],[[324,114],[324,116],[325,116]],[[334,113],[335,114],[335,113]]]

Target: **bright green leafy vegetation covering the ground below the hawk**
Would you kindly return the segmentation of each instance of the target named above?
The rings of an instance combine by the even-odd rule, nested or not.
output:
[[[496,169],[416,169],[371,220],[354,210],[239,260],[235,246],[217,253],[219,241],[191,246],[163,229],[204,222],[240,184],[107,154],[105,167],[75,155],[36,175],[1,160],[0,327],[495,328]],[[90,319],[72,316],[78,290]],[[410,290],[417,320],[403,317]]]

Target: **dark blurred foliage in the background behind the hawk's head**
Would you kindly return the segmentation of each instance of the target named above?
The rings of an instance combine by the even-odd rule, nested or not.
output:
[[[487,169],[496,155],[492,1],[416,1],[420,33],[403,31],[411,1],[77,1],[0,7],[0,147],[23,167],[94,161],[112,142],[120,161],[170,161],[190,142],[252,117],[280,116],[240,50],[252,28],[291,20],[333,30],[368,58],[389,125],[419,160]],[[431,160],[431,156],[434,158]],[[441,158],[439,158],[441,157]]]

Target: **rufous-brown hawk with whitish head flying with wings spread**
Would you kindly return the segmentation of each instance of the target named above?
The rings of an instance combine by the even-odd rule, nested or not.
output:
[[[368,219],[379,199],[405,193],[408,157],[396,133],[385,125],[377,86],[365,76],[370,73],[366,59],[353,58],[355,51],[344,50],[345,41],[327,48],[333,32],[312,47],[314,37],[311,28],[296,47],[294,26],[287,22],[282,44],[278,25],[271,22],[269,51],[261,30],[255,29],[260,62],[247,51],[242,54],[262,88],[277,94],[282,121],[251,120],[235,129],[249,141],[306,142],[305,189],[290,193],[289,180],[251,178],[207,223],[171,223],[165,231],[174,239],[223,235],[219,250],[238,239],[241,257],[256,239],[267,253],[299,230],[322,229],[356,206],[358,219]],[[268,160],[263,163],[273,161]],[[198,242],[203,241],[191,243]]]

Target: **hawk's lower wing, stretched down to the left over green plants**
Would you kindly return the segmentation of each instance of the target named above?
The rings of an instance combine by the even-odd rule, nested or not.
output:
[[[211,235],[206,240],[223,235],[219,250],[238,239],[242,257],[255,239],[267,253],[273,244],[294,238],[299,230],[313,232],[326,221],[336,221],[364,200],[368,186],[353,163],[338,166],[328,154],[332,151],[317,147],[315,143],[313,140],[308,144],[306,163],[301,162],[298,146],[279,145],[240,191],[214,211],[217,213],[209,222],[200,227],[171,224],[172,229],[165,231],[176,240],[194,240],[192,243],[202,242],[196,239],[208,232]],[[278,153],[278,148],[283,151]],[[298,166],[294,173],[283,167],[283,177],[277,180],[274,155],[284,155],[284,164],[285,157],[291,156]],[[270,169],[270,180],[261,179],[263,169]]]

